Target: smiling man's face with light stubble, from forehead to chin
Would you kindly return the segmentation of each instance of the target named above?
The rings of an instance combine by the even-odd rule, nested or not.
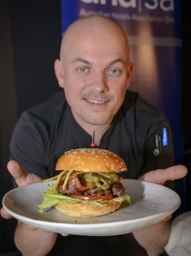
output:
[[[76,120],[110,124],[129,85],[125,40],[111,33],[74,33],[61,58],[66,100]]]

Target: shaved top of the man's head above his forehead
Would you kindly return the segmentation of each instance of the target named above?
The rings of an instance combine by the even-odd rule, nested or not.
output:
[[[119,40],[123,44],[124,54],[129,57],[128,39],[123,29],[113,20],[99,14],[93,14],[74,21],[65,31],[61,42],[60,59],[71,49],[71,43],[81,40],[100,43],[105,40],[108,45],[111,41]]]

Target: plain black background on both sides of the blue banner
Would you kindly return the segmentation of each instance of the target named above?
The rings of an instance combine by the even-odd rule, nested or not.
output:
[[[183,1],[182,1],[183,2]],[[190,210],[191,122],[190,122],[190,1],[183,4],[182,123],[184,164],[189,173],[184,183],[184,210]],[[2,0],[0,6],[0,201],[11,190],[6,164],[14,125],[26,109],[60,90],[54,75],[59,58],[61,12],[59,0]],[[181,72],[181,71],[180,71]],[[15,219],[0,217],[0,253],[12,252]],[[11,254],[10,254],[11,255]]]

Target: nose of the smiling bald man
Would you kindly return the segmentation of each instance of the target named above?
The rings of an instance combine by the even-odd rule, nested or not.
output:
[[[98,93],[107,92],[109,90],[107,76],[100,73],[95,74],[93,82],[90,85],[90,89]]]

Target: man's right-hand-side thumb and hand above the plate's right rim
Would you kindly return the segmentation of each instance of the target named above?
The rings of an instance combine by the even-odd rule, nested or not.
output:
[[[163,185],[167,180],[177,180],[187,174],[187,168],[184,165],[176,165],[167,169],[158,169],[145,173],[139,178],[148,182]]]

